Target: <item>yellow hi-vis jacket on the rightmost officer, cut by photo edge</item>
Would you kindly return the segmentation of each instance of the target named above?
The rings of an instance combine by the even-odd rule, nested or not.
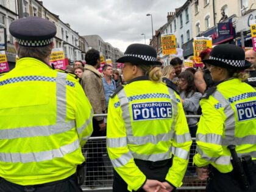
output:
[[[208,94],[211,92],[210,94]],[[196,133],[196,166],[211,164],[221,173],[233,170],[228,145],[241,157],[256,159],[256,92],[238,78],[224,81],[202,97]]]

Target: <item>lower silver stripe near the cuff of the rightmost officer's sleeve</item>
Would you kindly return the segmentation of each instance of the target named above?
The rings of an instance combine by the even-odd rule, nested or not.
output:
[[[200,154],[201,159],[205,159],[207,161],[214,162],[217,165],[229,165],[230,164],[231,156],[210,157],[207,154],[205,154],[198,145],[196,147],[196,151],[197,151],[197,153]]]

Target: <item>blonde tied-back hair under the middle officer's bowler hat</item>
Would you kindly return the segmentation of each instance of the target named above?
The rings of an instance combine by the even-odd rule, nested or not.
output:
[[[149,75],[149,80],[155,83],[162,82],[162,69],[160,66],[150,66],[146,64],[138,65],[144,75]]]

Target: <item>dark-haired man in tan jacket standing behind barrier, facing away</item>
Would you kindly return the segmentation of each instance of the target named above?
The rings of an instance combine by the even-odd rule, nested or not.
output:
[[[102,74],[97,70],[101,64],[98,50],[88,50],[85,54],[85,61],[87,64],[82,75],[82,87],[93,107],[94,114],[104,114],[106,110],[105,94]],[[105,136],[105,129],[104,117],[93,117],[93,134],[91,136]],[[101,170],[104,167],[100,143],[88,143],[87,167],[87,185],[93,186],[96,184],[97,174],[102,173]]]

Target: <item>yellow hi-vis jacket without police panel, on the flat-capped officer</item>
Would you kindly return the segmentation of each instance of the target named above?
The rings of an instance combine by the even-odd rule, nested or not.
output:
[[[76,172],[93,130],[93,110],[79,81],[21,58],[0,77],[0,101],[0,177],[37,185]]]

